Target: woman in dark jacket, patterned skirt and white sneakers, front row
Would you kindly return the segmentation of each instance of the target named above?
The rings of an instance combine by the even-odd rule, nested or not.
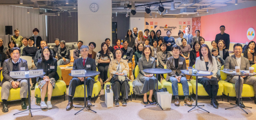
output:
[[[41,108],[52,108],[51,97],[52,90],[55,88],[55,82],[59,80],[59,76],[57,73],[57,60],[53,58],[52,52],[50,48],[47,46],[42,48],[41,59],[38,60],[37,69],[43,70],[45,72],[44,76],[40,76],[36,78],[38,88],[41,89]],[[48,100],[45,103],[44,98],[46,95],[46,91],[48,90]],[[46,105],[47,104],[47,105]]]

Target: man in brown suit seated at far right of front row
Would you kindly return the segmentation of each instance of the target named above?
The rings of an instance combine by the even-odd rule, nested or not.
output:
[[[242,44],[240,44],[240,43],[234,44],[234,55],[228,56],[226,58],[225,63],[224,63],[224,68],[235,70],[235,67],[238,66],[238,67],[240,67],[240,70],[249,70],[250,62],[247,58],[244,58],[244,56],[241,56],[242,50],[243,50]],[[240,94],[239,106],[242,108],[245,107],[242,102],[242,96],[241,96],[242,90],[243,90],[243,84],[253,85],[254,92],[256,93],[256,77],[254,77],[254,76],[248,76],[248,77],[241,76],[240,86],[238,86],[238,76],[228,75],[227,79],[225,81],[235,84],[236,104],[238,104],[238,94]],[[240,88],[240,93],[238,93],[238,88]]]

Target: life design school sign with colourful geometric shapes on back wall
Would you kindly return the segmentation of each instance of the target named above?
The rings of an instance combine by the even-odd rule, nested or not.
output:
[[[190,34],[192,34],[192,18],[145,18],[145,29],[161,30],[161,36],[167,36],[166,32],[170,30],[171,36],[178,36],[179,32],[185,33],[185,28],[190,28]],[[144,31],[144,30],[142,30]]]

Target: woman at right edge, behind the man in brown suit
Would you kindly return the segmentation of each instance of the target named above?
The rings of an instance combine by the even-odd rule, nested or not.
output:
[[[255,42],[250,41],[248,43],[248,46],[244,50],[244,58],[247,58],[250,62],[250,66],[256,64],[256,48],[255,48]]]

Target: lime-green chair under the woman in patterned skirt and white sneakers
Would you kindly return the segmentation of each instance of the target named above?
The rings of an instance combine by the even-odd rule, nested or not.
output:
[[[57,97],[57,96],[64,96],[64,101],[65,101],[65,94],[67,93],[67,86],[66,83],[61,80],[61,69],[60,66],[57,66],[57,73],[59,76],[59,80],[56,81],[55,83],[55,88],[52,90],[52,97]],[[48,91],[46,92],[45,97],[48,97],[47,95]],[[36,83],[35,86],[35,98],[36,98],[36,103],[38,103],[38,98],[41,98],[41,90],[38,88],[38,84]]]

